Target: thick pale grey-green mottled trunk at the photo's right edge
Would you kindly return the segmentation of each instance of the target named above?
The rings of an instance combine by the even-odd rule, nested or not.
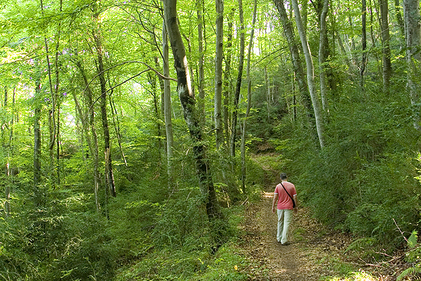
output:
[[[408,91],[413,105],[414,127],[421,131],[420,123],[420,67],[421,67],[421,27],[420,2],[403,0],[403,18],[405,20],[406,63],[408,65]]]

